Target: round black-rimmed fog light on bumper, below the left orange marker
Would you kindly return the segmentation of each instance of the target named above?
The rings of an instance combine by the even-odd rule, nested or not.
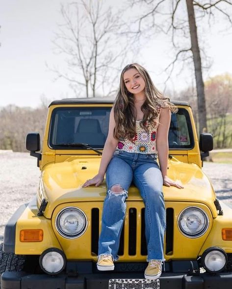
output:
[[[58,274],[66,265],[65,254],[57,248],[47,249],[40,256],[39,265],[47,274]]]

